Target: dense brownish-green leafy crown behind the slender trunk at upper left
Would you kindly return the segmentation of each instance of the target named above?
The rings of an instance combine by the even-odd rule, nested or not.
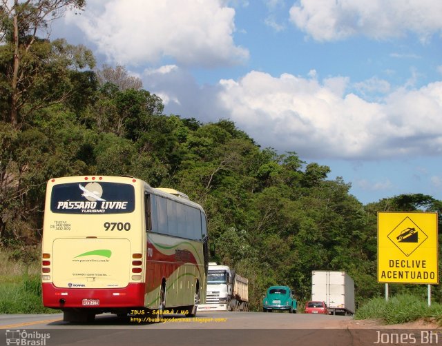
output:
[[[95,60],[90,50],[79,45],[69,45],[63,39],[47,41],[37,39],[29,49],[20,46],[19,76],[14,81],[13,59],[14,45],[0,45],[0,91],[3,94],[1,103],[3,121],[10,119],[9,112],[16,108],[19,123],[32,121],[36,110],[52,104],[75,102],[78,107],[95,92],[96,81],[90,80],[90,72],[79,72],[80,69],[93,67]],[[13,88],[12,83],[17,83]],[[15,84],[14,84],[15,85]],[[82,96],[79,92],[84,93]],[[17,99],[15,105],[9,102]]]

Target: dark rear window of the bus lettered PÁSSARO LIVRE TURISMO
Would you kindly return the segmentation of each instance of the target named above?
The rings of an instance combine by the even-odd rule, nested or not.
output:
[[[122,183],[66,183],[52,187],[50,210],[59,214],[122,214],[135,209],[135,190]]]

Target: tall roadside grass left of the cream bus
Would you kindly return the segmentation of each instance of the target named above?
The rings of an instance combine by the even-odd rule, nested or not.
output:
[[[41,301],[39,261],[24,263],[0,247],[0,314],[50,314]]]

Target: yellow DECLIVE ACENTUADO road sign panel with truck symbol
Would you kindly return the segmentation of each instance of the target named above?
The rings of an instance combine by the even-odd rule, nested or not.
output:
[[[439,283],[437,213],[378,212],[378,282]]]

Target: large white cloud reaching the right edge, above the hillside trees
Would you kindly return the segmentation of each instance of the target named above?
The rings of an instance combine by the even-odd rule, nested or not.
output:
[[[442,82],[384,101],[345,93],[348,79],[317,81],[250,72],[222,80],[218,102],[258,143],[302,157],[375,159],[442,154]]]

